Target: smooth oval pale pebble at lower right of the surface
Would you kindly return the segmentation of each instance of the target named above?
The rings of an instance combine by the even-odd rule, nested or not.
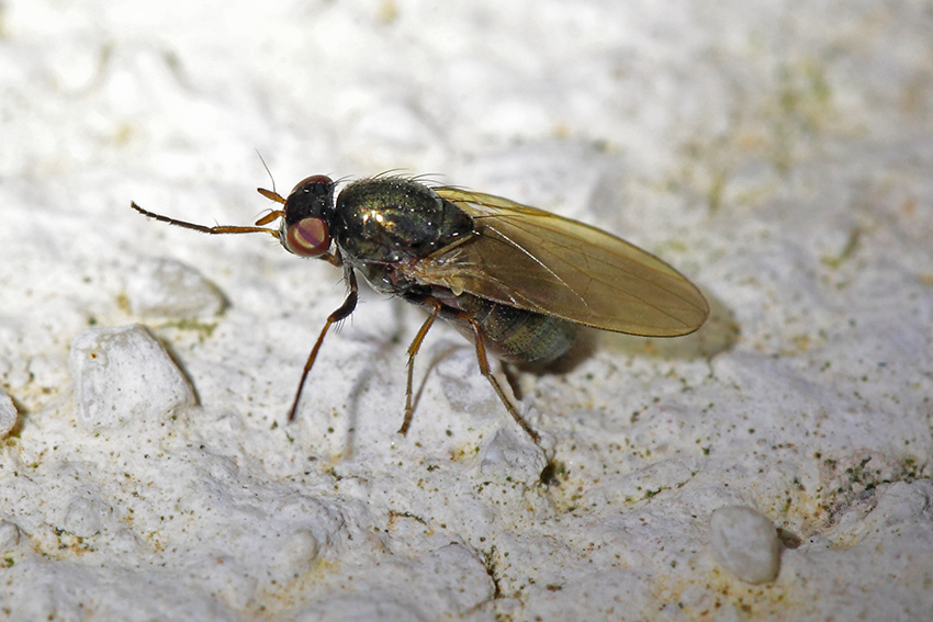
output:
[[[774,523],[752,508],[727,506],[709,519],[717,562],[739,580],[764,584],[777,578],[780,541]]]

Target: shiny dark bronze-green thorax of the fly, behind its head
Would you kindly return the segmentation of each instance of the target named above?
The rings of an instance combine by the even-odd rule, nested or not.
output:
[[[473,233],[473,219],[428,186],[404,178],[364,179],[337,197],[333,235],[356,263],[426,258]]]

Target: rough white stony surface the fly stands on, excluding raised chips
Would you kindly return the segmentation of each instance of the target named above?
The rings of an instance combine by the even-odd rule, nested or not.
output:
[[[931,32],[923,0],[8,0],[0,611],[933,618]],[[255,149],[280,191],[403,168],[596,223],[712,317],[524,377],[541,449],[446,327],[397,436],[423,316],[367,293],[285,426],[339,273],[128,207],[251,223]],[[136,315],[151,258],[229,306]],[[201,406],[82,426],[69,344],[132,324]],[[709,552],[735,505],[780,529],[772,584]]]

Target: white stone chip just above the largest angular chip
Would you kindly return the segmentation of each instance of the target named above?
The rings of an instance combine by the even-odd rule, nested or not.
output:
[[[226,301],[200,272],[166,258],[139,260],[126,281],[130,309],[146,318],[193,318],[221,313]]]

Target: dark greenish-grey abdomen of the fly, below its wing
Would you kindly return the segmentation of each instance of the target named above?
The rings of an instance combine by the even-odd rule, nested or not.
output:
[[[447,301],[445,303],[449,304]],[[578,326],[563,319],[461,294],[454,305],[473,316],[485,344],[497,358],[510,362],[548,363],[570,350]],[[466,321],[445,307],[441,317],[472,337]]]

